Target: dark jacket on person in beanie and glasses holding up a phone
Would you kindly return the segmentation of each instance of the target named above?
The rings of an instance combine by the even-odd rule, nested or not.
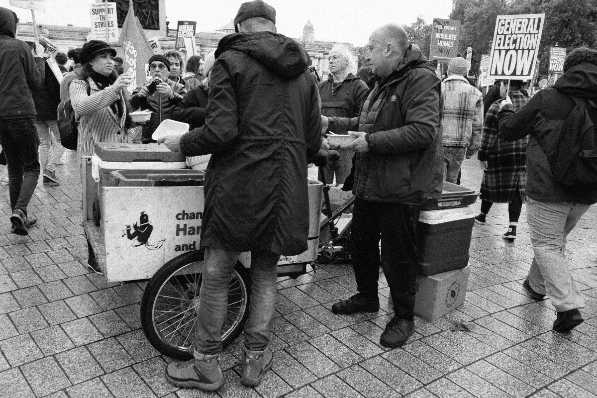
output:
[[[141,142],[143,143],[155,143],[155,140],[151,137],[153,132],[161,122],[166,119],[172,119],[171,115],[174,107],[183,100],[184,94],[186,94],[184,84],[171,81],[170,79],[166,82],[170,85],[172,91],[174,91],[174,98],[172,99],[162,95],[159,91],[156,91],[153,95],[141,98],[137,95],[139,90],[141,90],[141,86],[133,91],[133,96],[130,99],[131,107],[133,109],[140,108],[152,111],[149,122],[143,125],[143,133],[141,134]]]

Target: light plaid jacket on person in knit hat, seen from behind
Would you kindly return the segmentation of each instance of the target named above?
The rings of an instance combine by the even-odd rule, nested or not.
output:
[[[440,130],[444,146],[469,147],[472,155],[479,149],[483,129],[483,95],[462,76],[442,82]]]

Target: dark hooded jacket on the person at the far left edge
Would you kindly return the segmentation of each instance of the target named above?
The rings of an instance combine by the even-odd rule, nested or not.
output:
[[[0,119],[35,118],[31,91],[44,85],[44,58],[33,58],[16,32],[13,11],[0,7]]]

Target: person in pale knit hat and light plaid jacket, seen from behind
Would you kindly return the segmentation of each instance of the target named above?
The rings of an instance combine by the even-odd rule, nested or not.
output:
[[[463,57],[448,64],[442,82],[442,112],[439,129],[444,144],[444,181],[456,184],[464,158],[470,159],[481,146],[483,95],[464,77],[469,71]]]

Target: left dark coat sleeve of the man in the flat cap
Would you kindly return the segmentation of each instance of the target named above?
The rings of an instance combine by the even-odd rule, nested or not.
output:
[[[238,107],[232,78],[219,62],[211,70],[210,86],[205,125],[180,138],[180,150],[184,156],[218,153],[239,135]]]

